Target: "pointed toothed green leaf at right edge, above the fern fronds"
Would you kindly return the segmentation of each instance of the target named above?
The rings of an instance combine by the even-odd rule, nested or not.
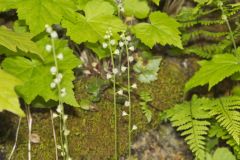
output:
[[[216,55],[210,61],[200,61],[201,68],[186,83],[185,91],[196,86],[209,84],[210,90],[224,78],[240,71],[240,58],[232,54]]]

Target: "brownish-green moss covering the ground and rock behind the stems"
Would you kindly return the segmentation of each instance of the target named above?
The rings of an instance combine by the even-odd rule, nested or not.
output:
[[[140,132],[156,127],[158,122],[158,110],[163,110],[181,101],[182,89],[185,76],[179,65],[171,60],[164,60],[159,71],[158,80],[150,84],[138,84],[138,92],[148,91],[154,98],[151,108],[153,121],[148,124],[142,114],[137,97],[133,97],[133,124],[138,130],[133,134],[133,140]],[[82,78],[75,83],[75,92],[78,100],[88,97],[85,84],[88,79]],[[108,89],[101,96],[101,101],[95,104],[95,111],[84,111],[81,109],[69,109],[68,128],[71,131],[69,137],[70,154],[74,160],[79,159],[111,159],[114,153],[114,115],[112,104],[112,90]],[[119,152],[124,156],[128,147],[128,119],[121,117],[121,112],[126,110],[123,105],[118,104],[119,113]],[[58,121],[55,120],[56,126]],[[56,127],[58,128],[58,127]],[[41,137],[40,144],[32,145],[32,159],[53,160],[55,156],[54,141],[49,111],[33,113],[33,133]],[[27,135],[26,120],[21,125],[17,152],[15,160],[25,160],[27,157]],[[7,141],[5,146],[10,153],[13,141]]]

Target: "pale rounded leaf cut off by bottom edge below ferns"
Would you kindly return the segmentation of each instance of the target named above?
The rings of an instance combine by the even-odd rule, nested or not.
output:
[[[226,159],[226,160],[236,160],[234,155],[229,151],[228,148],[217,148],[214,152],[213,156],[208,155],[206,160],[220,160],[220,159]]]

